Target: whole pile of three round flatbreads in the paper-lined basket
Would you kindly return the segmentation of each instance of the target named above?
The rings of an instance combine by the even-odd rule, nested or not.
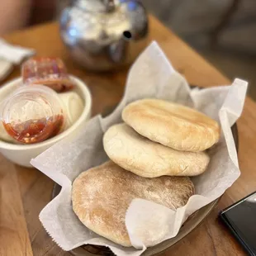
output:
[[[174,211],[186,205],[195,192],[189,177],[206,171],[205,150],[219,140],[220,126],[199,111],[157,99],[130,103],[122,119],[103,137],[111,160],[76,178],[72,201],[83,225],[128,247],[130,202],[142,198]]]

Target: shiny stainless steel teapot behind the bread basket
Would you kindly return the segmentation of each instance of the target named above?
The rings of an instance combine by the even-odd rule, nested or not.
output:
[[[138,0],[76,0],[60,16],[60,34],[86,69],[117,69],[145,48],[148,17]]]

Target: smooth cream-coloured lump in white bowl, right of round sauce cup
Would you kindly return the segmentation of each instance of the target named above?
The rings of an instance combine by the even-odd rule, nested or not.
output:
[[[81,116],[84,108],[83,100],[77,92],[62,92],[59,93],[59,98],[64,104],[64,112],[66,113],[66,126],[68,129]]]

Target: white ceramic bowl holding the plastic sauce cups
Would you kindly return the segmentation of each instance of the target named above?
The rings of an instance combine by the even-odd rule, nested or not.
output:
[[[30,164],[31,159],[36,158],[36,156],[46,149],[50,148],[50,146],[55,145],[56,142],[62,140],[66,137],[72,137],[80,130],[83,129],[85,122],[91,117],[91,109],[92,109],[92,96],[88,87],[86,86],[83,81],[78,78],[73,78],[74,82],[76,83],[76,88],[74,89],[75,92],[78,92],[78,95],[83,98],[84,102],[84,109],[81,116],[78,120],[70,126],[67,130],[64,130],[59,135],[55,137],[45,140],[40,143],[36,143],[33,145],[14,145],[12,143],[7,143],[5,141],[0,140],[0,152],[10,161],[15,164],[19,164],[25,167],[32,167]],[[12,80],[9,83],[2,85],[0,88],[0,102],[3,98],[7,97],[7,95],[15,90],[17,87],[21,85],[21,78],[17,78]]]

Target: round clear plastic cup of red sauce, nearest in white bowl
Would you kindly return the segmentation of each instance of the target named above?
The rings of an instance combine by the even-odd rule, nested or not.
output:
[[[58,94],[43,85],[18,88],[2,103],[2,124],[21,143],[33,144],[59,134],[64,121]]]

